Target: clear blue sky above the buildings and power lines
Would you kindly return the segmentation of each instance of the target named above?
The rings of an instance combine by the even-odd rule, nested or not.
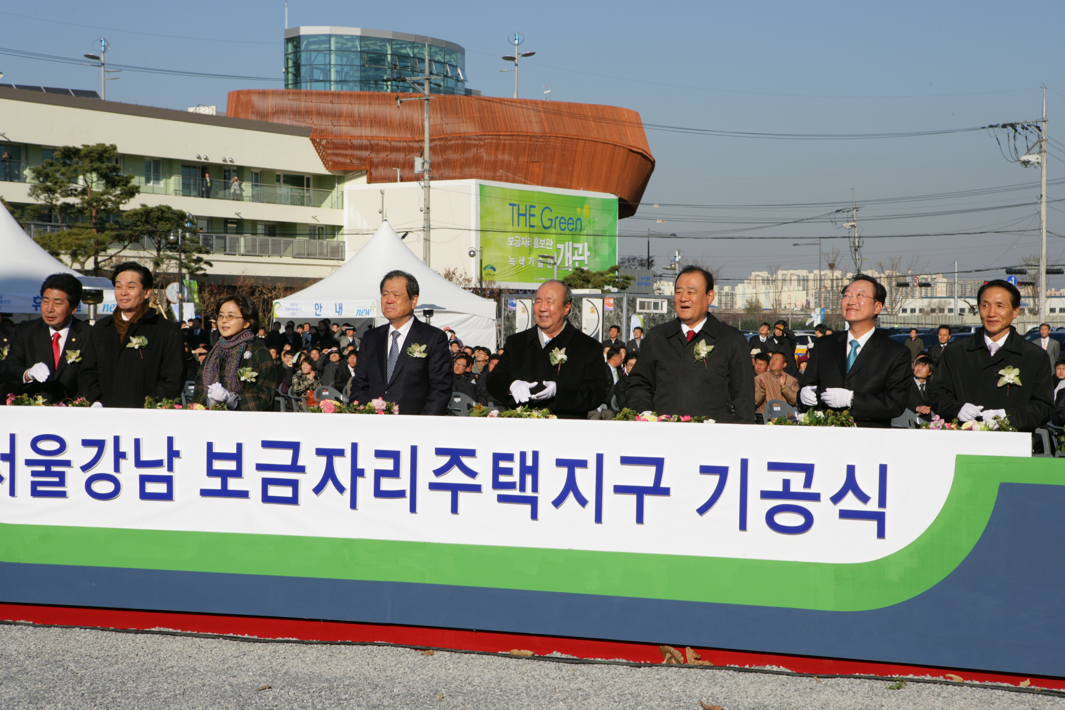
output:
[[[36,19],[31,19],[36,18]],[[507,35],[526,36],[537,55],[523,64],[522,96],[607,103],[638,111],[646,123],[765,133],[882,133],[946,130],[1036,118],[1046,84],[1049,134],[1065,144],[1065,73],[1061,43],[1065,3],[1032,2],[1023,13],[988,2],[892,3],[349,3],[293,0],[290,27],[332,24],[430,34],[466,48],[469,86],[510,96]],[[115,63],[255,77],[280,77],[283,0],[253,3],[147,3],[55,0],[11,3],[0,11],[0,47],[80,56],[105,36]],[[96,29],[108,28],[108,29]],[[151,34],[136,34],[151,33]],[[168,36],[151,36],[168,35]],[[184,38],[179,38],[184,37]],[[3,82],[98,88],[99,73],[0,56]],[[124,72],[109,98],[184,109],[222,110],[236,88],[279,82],[162,77]],[[0,117],[2,122],[2,117]],[[1055,129],[1061,126],[1061,129]],[[2,130],[2,127],[0,127]],[[646,205],[625,219],[623,234],[650,228],[678,235],[744,228],[744,219],[786,221],[863,200],[920,196],[1037,182],[1038,171],[1007,162],[985,131],[866,141],[766,141],[649,130],[657,161]],[[1065,177],[1051,153],[1049,177]],[[934,270],[981,269],[1018,263],[1038,248],[1032,205],[965,213],[974,208],[1033,202],[1037,187],[978,197],[881,202],[859,212],[866,237],[887,234],[1005,230],[970,236],[867,238],[869,264],[898,254],[928,260]],[[1061,186],[1051,200],[1065,197]],[[818,202],[829,207],[803,207]],[[718,205],[667,208],[666,204]],[[720,209],[720,205],[794,204]],[[961,214],[957,214],[962,211]],[[940,216],[878,216],[954,212]],[[1065,234],[1065,202],[1048,209],[1050,231]],[[657,219],[665,219],[658,222]],[[712,221],[707,221],[712,220]],[[814,268],[816,247],[792,241],[839,237],[831,224],[799,224],[743,232],[765,241],[656,238],[659,258],[682,249],[723,268],[730,279],[771,265]],[[645,242],[623,238],[622,253]],[[826,240],[845,250],[842,240]],[[1049,237],[1054,263],[1065,238]],[[842,259],[847,263],[847,259]],[[1001,276],[981,273],[979,278]],[[963,275],[962,278],[967,278]],[[977,278],[977,276],[968,277]],[[1059,282],[1052,280],[1052,285]],[[1065,285],[1065,284],[1063,284]]]

